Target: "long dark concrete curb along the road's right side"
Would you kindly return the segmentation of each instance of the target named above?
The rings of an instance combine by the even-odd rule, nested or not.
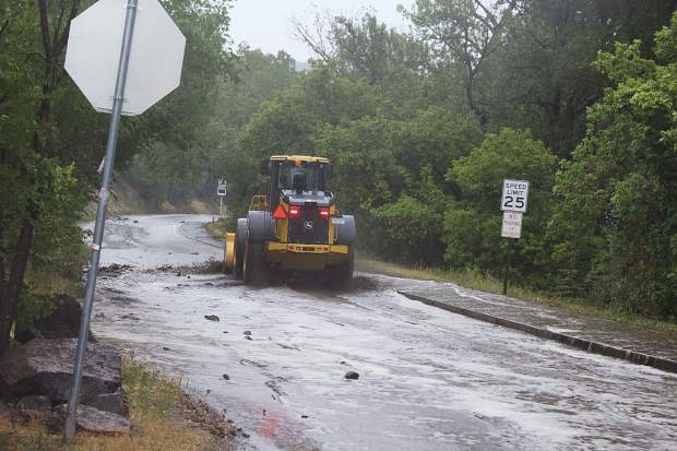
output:
[[[607,357],[620,358],[631,361],[638,365],[645,365],[653,368],[661,369],[667,372],[677,373],[677,361],[669,360],[667,358],[651,356],[648,354],[637,353],[634,351],[628,351],[620,347],[609,346],[604,343],[594,342],[591,340],[579,339],[572,335],[567,335],[559,332],[553,332],[547,329],[536,328],[521,322],[507,320],[504,318],[495,317],[487,313],[482,313],[475,310],[468,310],[463,307],[453,306],[451,304],[442,302],[439,300],[428,299],[423,296],[417,296],[411,293],[397,292],[402,296],[412,300],[426,304],[428,306],[437,307],[443,310],[451,311],[452,313],[463,314],[468,318],[473,318],[479,321],[490,322],[491,324],[502,325],[506,328],[514,329],[521,332],[525,332],[532,335],[536,335],[542,339],[553,340],[558,343],[562,343],[575,348],[586,351],[593,354],[599,354]]]

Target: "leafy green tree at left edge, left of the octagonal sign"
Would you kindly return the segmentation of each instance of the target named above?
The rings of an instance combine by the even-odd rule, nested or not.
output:
[[[78,0],[2,2],[0,24],[0,352],[9,346],[40,219],[73,183],[61,178],[55,98]],[[36,32],[37,31],[37,32]],[[10,185],[12,183],[12,185]]]

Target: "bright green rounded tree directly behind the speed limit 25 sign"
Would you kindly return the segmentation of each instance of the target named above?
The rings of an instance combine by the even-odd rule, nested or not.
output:
[[[556,158],[541,141],[528,131],[512,129],[488,134],[479,147],[456,161],[447,176],[461,193],[444,221],[448,264],[499,276],[510,257],[513,278],[519,275],[538,284],[548,261],[545,225],[555,169]],[[531,183],[522,239],[515,242],[500,236],[503,179]]]

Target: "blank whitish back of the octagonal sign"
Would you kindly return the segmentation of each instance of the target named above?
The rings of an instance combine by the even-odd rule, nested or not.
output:
[[[122,115],[136,116],[179,86],[186,37],[157,0],[138,0]],[[127,0],[99,0],[71,22],[66,70],[97,111],[110,112]]]

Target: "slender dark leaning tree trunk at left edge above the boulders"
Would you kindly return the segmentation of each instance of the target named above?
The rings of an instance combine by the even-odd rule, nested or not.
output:
[[[33,213],[24,218],[16,244],[16,253],[7,284],[2,284],[2,297],[0,297],[0,353],[10,346],[10,334],[16,321],[19,310],[19,296],[24,283],[24,274],[31,254],[31,244],[33,241]]]

